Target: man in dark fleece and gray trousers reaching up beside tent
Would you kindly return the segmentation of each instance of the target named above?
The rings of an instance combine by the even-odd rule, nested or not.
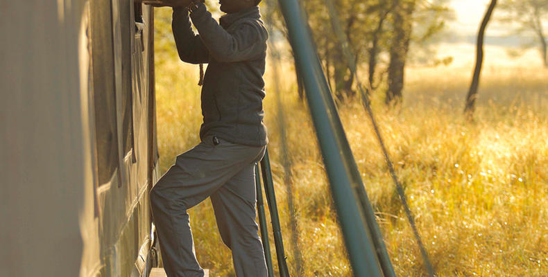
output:
[[[260,19],[260,0],[221,0],[221,11],[227,13],[219,19],[221,25],[202,1],[143,2],[173,7],[180,59],[209,64],[201,96],[201,143],[180,154],[151,191],[166,274],[204,276],[193,251],[187,209],[210,197],[236,275],[266,277],[255,222],[255,164],[268,143],[262,107],[268,34]]]

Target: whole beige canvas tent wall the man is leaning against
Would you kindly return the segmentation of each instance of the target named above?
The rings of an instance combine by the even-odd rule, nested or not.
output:
[[[151,24],[151,10],[133,15],[130,0],[3,2],[0,275],[130,276],[150,247],[148,187],[157,178],[151,25],[133,22],[142,12]],[[112,4],[112,21],[94,19],[98,3]],[[94,44],[101,30],[110,30],[111,50]],[[95,72],[109,55],[112,72]],[[111,90],[101,87],[109,74]],[[98,172],[110,150],[96,136],[96,126],[109,128],[96,122],[105,109],[94,105],[94,84],[116,95],[112,189]]]

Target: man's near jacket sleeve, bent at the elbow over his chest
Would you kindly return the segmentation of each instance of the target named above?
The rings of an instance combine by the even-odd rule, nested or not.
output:
[[[266,28],[256,21],[245,21],[228,33],[200,4],[190,15],[209,55],[219,62],[240,62],[261,57],[266,52]]]

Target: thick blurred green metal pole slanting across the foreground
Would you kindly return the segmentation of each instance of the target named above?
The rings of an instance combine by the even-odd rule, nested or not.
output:
[[[354,276],[394,276],[393,271],[383,271],[386,265],[380,265],[378,252],[386,253],[386,247],[375,247],[374,240],[382,241],[382,237],[379,238],[380,234],[374,231],[378,226],[374,220],[373,207],[363,188],[356,161],[307,29],[304,12],[297,0],[279,2],[293,53],[298,60],[298,70],[304,80],[307,101]],[[373,222],[370,220],[372,218]]]

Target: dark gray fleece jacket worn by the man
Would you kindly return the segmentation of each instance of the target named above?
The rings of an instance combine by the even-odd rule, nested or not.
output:
[[[268,33],[259,7],[224,15],[219,25],[200,4],[190,18],[199,35],[192,30],[186,9],[173,10],[173,37],[180,59],[208,63],[200,139],[215,135],[232,143],[266,145],[262,100]]]

